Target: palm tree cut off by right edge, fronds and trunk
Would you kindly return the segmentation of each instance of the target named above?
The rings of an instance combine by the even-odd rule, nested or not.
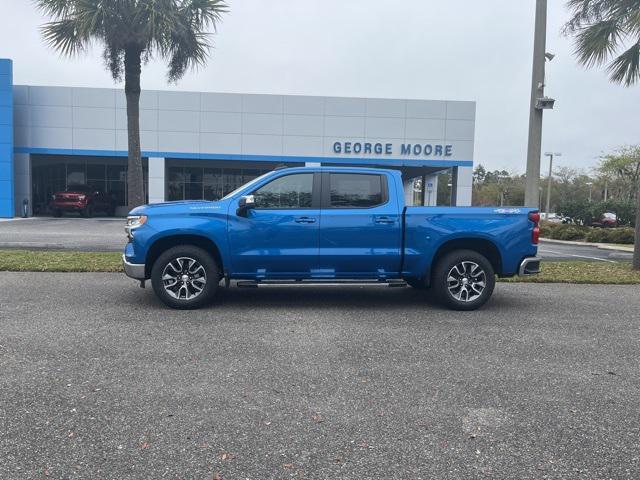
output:
[[[568,0],[564,33],[586,67],[606,66],[613,83],[640,81],[640,0]],[[633,268],[640,270],[640,185],[636,185],[636,243]]]

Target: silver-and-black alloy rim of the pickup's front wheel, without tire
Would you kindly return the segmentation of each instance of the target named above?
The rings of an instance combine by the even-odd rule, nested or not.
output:
[[[207,284],[204,267],[193,258],[178,257],[162,271],[165,291],[178,300],[192,300],[202,293]]]

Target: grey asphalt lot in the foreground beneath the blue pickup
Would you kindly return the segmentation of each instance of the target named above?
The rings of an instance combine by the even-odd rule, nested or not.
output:
[[[223,291],[0,275],[0,478],[640,477],[637,286]]]

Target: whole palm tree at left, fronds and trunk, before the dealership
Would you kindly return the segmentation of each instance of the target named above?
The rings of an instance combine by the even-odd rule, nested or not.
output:
[[[36,0],[53,20],[42,27],[45,41],[73,57],[94,43],[114,80],[122,80],[127,99],[129,208],[144,203],[140,156],[140,73],[157,56],[168,62],[175,82],[189,68],[203,65],[216,29],[227,11],[223,0]]]

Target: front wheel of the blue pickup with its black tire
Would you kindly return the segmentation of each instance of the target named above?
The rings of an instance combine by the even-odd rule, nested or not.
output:
[[[179,261],[178,259],[183,260]],[[194,269],[194,264],[189,262],[186,262],[185,269],[184,259],[195,261],[202,267],[204,270],[204,285],[202,285],[200,269]],[[173,266],[170,267],[170,264]],[[182,267],[181,272],[177,272],[176,266]],[[171,280],[168,280],[167,284],[165,284],[163,276],[165,274],[174,275],[174,273],[177,283],[173,284],[175,288],[172,289],[169,284]],[[181,283],[183,275],[188,275],[192,278],[185,279],[186,284]],[[153,291],[165,305],[180,310],[200,308],[210,302],[217,291],[219,282],[219,269],[213,257],[205,250],[192,245],[170,248],[158,257],[151,269]],[[201,287],[201,291],[197,290],[199,287]],[[194,296],[187,298],[188,295]]]

